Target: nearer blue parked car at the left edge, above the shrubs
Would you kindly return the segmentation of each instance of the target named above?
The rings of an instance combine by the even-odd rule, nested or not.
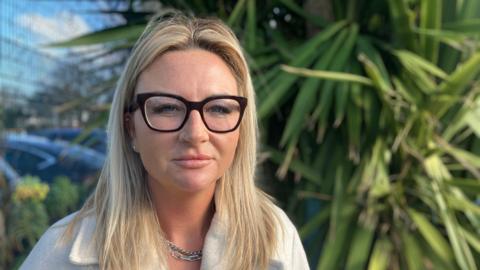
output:
[[[0,153],[18,174],[38,176],[51,182],[67,176],[74,182],[96,178],[105,156],[86,147],[27,134],[7,134]]]

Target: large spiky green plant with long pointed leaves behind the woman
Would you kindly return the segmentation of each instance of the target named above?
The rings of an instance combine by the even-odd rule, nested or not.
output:
[[[238,33],[312,268],[478,269],[478,1],[160,2]],[[147,17],[63,45],[128,47]]]

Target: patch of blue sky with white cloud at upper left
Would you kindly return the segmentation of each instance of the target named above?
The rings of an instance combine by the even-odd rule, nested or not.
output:
[[[0,89],[31,95],[38,89],[38,82],[54,83],[50,72],[58,63],[71,59],[65,56],[67,49],[42,45],[118,23],[111,16],[88,12],[106,8],[105,1],[1,0]],[[71,50],[85,53],[89,48]]]

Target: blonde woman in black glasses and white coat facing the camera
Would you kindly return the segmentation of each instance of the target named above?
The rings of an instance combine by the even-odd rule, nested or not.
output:
[[[108,158],[83,208],[22,269],[308,269],[295,227],[254,184],[254,90],[215,19],[153,19],[119,80]]]

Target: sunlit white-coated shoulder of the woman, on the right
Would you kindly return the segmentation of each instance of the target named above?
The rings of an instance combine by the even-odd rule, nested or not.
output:
[[[281,262],[285,269],[310,269],[297,228],[282,209],[273,208],[279,222],[275,260]]]

